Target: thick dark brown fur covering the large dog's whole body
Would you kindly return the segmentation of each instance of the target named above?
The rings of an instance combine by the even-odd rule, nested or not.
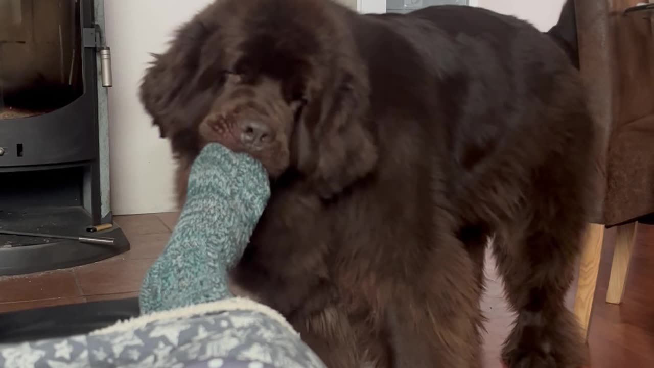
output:
[[[564,295],[596,132],[577,70],[526,22],[216,1],[156,57],[141,99],[179,160],[180,200],[207,134],[248,150],[241,107],[284,143],[252,149],[273,194],[231,276],[328,367],[479,367],[489,236],[518,313],[508,367],[583,365]]]

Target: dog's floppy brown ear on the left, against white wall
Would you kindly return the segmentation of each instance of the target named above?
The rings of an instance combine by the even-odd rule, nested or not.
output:
[[[203,98],[198,93],[201,84],[207,83],[206,78],[201,78],[200,74],[206,71],[201,69],[199,59],[209,37],[210,31],[203,22],[191,20],[177,29],[163,54],[153,54],[154,61],[146,69],[139,97],[162,138],[191,136],[190,131],[197,124],[194,115],[211,103],[209,96]]]

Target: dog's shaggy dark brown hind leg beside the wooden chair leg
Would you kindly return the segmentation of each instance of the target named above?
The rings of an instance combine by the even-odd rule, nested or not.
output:
[[[565,305],[587,223],[584,170],[553,165],[525,197],[524,212],[501,227],[493,253],[509,305],[517,312],[502,358],[508,368],[580,368],[581,327]]]

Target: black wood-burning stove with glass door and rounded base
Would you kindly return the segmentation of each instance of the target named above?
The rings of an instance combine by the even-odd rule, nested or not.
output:
[[[112,223],[102,0],[0,0],[0,230],[88,236]],[[0,234],[0,276],[129,249]]]

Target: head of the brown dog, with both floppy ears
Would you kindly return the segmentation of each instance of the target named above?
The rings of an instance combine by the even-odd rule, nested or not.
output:
[[[155,56],[141,101],[178,157],[217,141],[329,198],[377,160],[355,17],[325,0],[218,0]]]

